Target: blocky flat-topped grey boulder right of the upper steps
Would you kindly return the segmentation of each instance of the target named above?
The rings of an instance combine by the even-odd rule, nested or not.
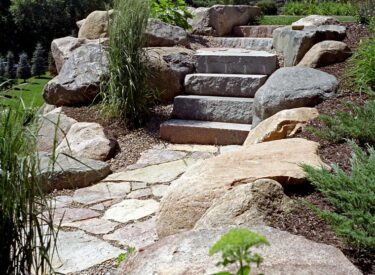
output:
[[[322,25],[305,27],[303,30],[293,30],[291,26],[273,31],[273,46],[284,56],[284,66],[298,64],[310,48],[324,40],[343,40],[346,28],[337,25]]]

